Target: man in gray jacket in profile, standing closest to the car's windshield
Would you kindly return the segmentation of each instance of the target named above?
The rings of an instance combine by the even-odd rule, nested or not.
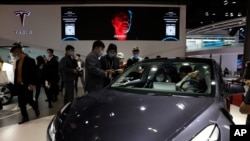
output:
[[[92,51],[85,59],[85,91],[91,93],[103,88],[104,78],[114,70],[101,69],[99,58],[103,55],[105,45],[102,41],[94,41]]]

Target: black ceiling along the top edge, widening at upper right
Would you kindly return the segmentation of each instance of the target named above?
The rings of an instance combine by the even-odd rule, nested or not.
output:
[[[244,17],[248,0],[1,0],[0,4],[153,3],[187,6],[187,29]]]

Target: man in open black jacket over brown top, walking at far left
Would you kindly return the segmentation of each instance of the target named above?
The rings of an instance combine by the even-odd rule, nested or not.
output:
[[[33,58],[26,56],[20,43],[15,43],[10,52],[16,58],[14,86],[18,95],[18,105],[22,120],[19,124],[29,121],[26,104],[29,103],[35,111],[36,117],[40,115],[37,103],[33,100],[33,90],[36,84],[36,63]]]

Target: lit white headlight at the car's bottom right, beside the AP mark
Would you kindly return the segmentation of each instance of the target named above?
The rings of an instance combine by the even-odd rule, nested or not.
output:
[[[219,127],[216,124],[211,124],[199,132],[191,141],[217,141],[219,137]]]

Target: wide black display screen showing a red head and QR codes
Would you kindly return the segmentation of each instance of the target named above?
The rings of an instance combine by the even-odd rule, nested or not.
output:
[[[62,40],[179,40],[179,7],[61,7]]]

